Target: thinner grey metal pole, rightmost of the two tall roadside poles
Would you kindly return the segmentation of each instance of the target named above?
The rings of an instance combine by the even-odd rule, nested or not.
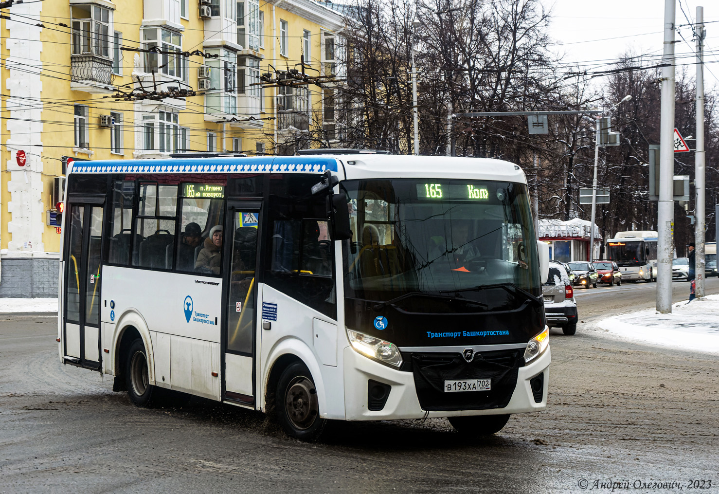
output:
[[[697,150],[695,151],[695,181],[697,194],[695,201],[694,242],[695,242],[695,273],[696,296],[704,296],[705,258],[704,258],[704,224],[705,224],[705,168],[704,168],[704,7],[697,7]]]

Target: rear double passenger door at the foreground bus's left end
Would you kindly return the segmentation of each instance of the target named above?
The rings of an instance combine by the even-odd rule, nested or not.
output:
[[[65,362],[99,370],[100,280],[104,207],[72,202],[65,217],[63,342]]]

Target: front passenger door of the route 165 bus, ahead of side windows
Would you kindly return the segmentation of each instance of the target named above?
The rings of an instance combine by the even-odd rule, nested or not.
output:
[[[225,219],[223,399],[254,406],[260,201],[229,201]]]

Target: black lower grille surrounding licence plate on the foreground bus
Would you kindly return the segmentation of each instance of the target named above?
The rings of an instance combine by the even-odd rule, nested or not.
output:
[[[472,362],[457,353],[413,353],[411,362],[419,404],[429,411],[504,408],[524,365],[523,349],[482,352]],[[487,378],[492,380],[489,391],[444,391],[445,380]]]

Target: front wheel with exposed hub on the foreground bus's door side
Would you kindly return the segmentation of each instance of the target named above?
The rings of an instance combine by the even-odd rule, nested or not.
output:
[[[316,441],[327,424],[319,415],[319,400],[312,375],[302,362],[290,364],[277,383],[277,418],[285,434],[302,441]]]

